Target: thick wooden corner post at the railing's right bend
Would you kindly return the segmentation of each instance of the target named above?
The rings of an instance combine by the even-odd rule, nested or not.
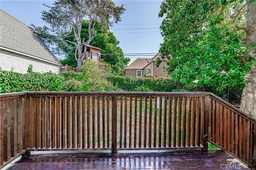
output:
[[[211,112],[211,98],[206,95],[204,98],[204,143],[203,151],[208,151],[208,141],[209,141],[209,112]]]

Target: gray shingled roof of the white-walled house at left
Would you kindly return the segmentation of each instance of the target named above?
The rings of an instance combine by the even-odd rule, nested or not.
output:
[[[60,65],[58,59],[31,28],[2,10],[0,10],[0,47]]]

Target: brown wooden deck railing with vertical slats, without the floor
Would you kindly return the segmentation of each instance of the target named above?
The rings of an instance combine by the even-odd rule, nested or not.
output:
[[[1,94],[0,166],[27,150],[198,150],[255,167],[255,120],[208,92]]]

